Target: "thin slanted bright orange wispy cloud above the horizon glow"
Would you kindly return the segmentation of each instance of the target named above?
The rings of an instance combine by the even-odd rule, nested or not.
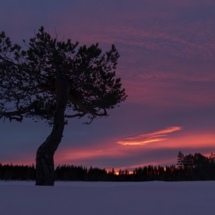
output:
[[[123,140],[118,141],[117,143],[120,145],[146,145],[153,142],[160,142],[168,139],[168,134],[176,131],[180,131],[182,128],[179,126],[172,126],[165,128],[163,130],[147,133],[147,134],[139,134],[132,137],[126,137]]]

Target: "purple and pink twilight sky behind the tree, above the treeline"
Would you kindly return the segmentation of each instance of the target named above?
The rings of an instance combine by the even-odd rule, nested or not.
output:
[[[132,169],[215,152],[214,0],[2,1],[0,31],[22,44],[41,25],[80,44],[115,44],[128,98],[108,118],[66,126],[55,164]],[[51,132],[0,121],[0,162],[32,164]]]

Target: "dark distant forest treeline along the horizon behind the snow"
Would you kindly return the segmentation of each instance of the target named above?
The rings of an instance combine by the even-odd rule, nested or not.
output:
[[[0,164],[0,180],[36,180],[35,166],[18,166]],[[55,169],[55,180],[58,181],[196,181],[215,180],[215,155],[209,157],[200,153],[184,156],[178,153],[176,165],[138,167],[128,170],[89,169],[82,166],[62,165]]]

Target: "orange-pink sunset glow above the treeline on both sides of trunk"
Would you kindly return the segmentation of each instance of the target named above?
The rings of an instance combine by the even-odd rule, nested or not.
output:
[[[164,154],[163,156],[157,157],[156,154],[159,153],[159,150],[165,151],[168,149],[177,149],[177,151],[182,151],[189,149],[188,153],[201,153],[203,155],[210,154],[215,151],[215,134],[213,131],[210,132],[195,132],[195,133],[187,133],[183,130],[183,132],[177,133],[177,135],[169,135],[175,131],[181,130],[181,127],[168,127],[166,129],[162,129],[159,131],[141,134],[137,136],[128,137],[129,141],[136,138],[136,142],[147,141],[143,140],[143,138],[148,138],[148,143],[143,144],[134,144],[134,145],[122,145],[119,144],[115,139],[112,141],[108,141],[105,144],[102,144],[102,147],[76,147],[76,148],[67,148],[57,151],[55,155],[55,165],[86,165],[86,167],[90,167],[91,161],[97,164],[99,168],[105,168],[107,171],[114,168],[116,172],[120,169],[129,171],[137,168],[143,167],[147,165],[161,165],[165,166],[166,164],[176,164],[177,154]],[[151,139],[150,139],[151,138]],[[156,139],[165,138],[162,141],[156,141]],[[124,138],[123,140],[125,140]],[[150,141],[153,140],[153,141]],[[208,148],[208,150],[205,150]],[[197,150],[198,149],[198,150]],[[204,153],[202,153],[204,150]],[[186,150],[187,151],[187,150]],[[154,153],[153,153],[154,152]],[[149,153],[149,154],[148,154]],[[184,153],[184,152],[183,152]],[[132,161],[136,156],[143,157],[143,159],[136,159],[135,162]],[[147,156],[148,161],[147,161]],[[113,163],[112,160],[115,160],[116,163]],[[128,162],[123,165],[121,159],[130,159],[132,161],[131,164]],[[101,164],[101,160],[106,160],[105,164]],[[120,164],[117,164],[119,161]],[[10,164],[13,165],[32,165],[35,164],[35,157],[32,155],[31,157],[26,157],[25,160],[10,160],[9,162],[6,160],[1,160],[2,164]],[[93,167],[94,164],[92,165]]]

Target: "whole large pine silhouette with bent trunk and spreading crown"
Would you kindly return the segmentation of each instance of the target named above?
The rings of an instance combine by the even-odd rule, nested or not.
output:
[[[36,185],[54,185],[54,153],[68,119],[88,116],[87,124],[127,95],[115,77],[119,53],[98,44],[58,41],[41,27],[25,49],[0,33],[0,118],[45,120],[52,132],[36,154]]]

